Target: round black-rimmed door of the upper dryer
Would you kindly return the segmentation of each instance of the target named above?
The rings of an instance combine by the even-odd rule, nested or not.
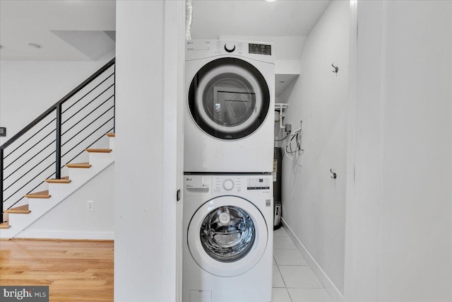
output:
[[[217,139],[242,139],[266,119],[270,92],[255,66],[227,57],[204,65],[191,81],[189,110],[203,132]]]

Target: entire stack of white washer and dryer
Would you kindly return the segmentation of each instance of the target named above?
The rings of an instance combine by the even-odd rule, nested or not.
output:
[[[186,41],[184,302],[271,301],[273,45]]]

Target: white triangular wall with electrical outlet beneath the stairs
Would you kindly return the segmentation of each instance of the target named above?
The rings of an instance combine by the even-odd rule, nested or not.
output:
[[[113,187],[114,164],[25,228],[16,238],[113,239]],[[88,200],[94,201],[94,211],[87,211]]]

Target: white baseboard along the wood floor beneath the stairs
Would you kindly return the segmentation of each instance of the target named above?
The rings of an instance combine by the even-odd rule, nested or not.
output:
[[[114,232],[24,230],[15,238],[114,240]]]

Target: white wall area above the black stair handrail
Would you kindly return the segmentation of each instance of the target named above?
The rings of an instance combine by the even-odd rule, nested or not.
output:
[[[0,127],[6,127],[7,137],[0,137],[0,144],[13,137],[113,57],[114,52],[95,62],[2,60]]]

